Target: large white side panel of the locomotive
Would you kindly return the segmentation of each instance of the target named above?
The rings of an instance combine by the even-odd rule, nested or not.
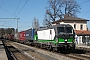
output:
[[[37,35],[39,40],[53,40],[55,37],[55,31],[54,29],[41,30],[37,31]]]

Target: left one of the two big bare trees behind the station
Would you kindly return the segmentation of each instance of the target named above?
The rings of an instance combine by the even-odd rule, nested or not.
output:
[[[46,9],[46,14],[48,14],[52,21],[55,21],[57,17],[57,2],[56,0],[49,0],[48,1],[49,7]]]

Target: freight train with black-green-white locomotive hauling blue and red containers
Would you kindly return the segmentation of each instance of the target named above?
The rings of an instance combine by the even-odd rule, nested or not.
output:
[[[28,29],[18,33],[17,41],[57,51],[75,49],[75,33],[69,24],[57,24],[49,28]]]

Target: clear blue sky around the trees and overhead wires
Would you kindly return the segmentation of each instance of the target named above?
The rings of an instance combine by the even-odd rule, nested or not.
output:
[[[80,6],[78,17],[90,20],[90,0],[76,0]],[[20,18],[18,22],[19,31],[32,27],[34,17],[39,20],[40,25],[45,15],[47,0],[0,0],[0,18]],[[15,17],[16,16],[16,17]],[[87,23],[90,29],[90,21]],[[16,28],[17,20],[0,19],[0,28]]]

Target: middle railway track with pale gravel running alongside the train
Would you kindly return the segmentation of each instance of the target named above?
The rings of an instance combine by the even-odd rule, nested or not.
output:
[[[52,52],[45,51],[39,48],[23,45],[16,42],[8,42],[17,49],[21,49],[22,51],[26,52],[28,55],[31,55],[34,60],[63,60],[63,57],[59,58],[60,55],[57,56],[57,54],[53,54]],[[70,58],[64,57],[65,59],[70,60]],[[73,59],[72,59],[73,60]]]

